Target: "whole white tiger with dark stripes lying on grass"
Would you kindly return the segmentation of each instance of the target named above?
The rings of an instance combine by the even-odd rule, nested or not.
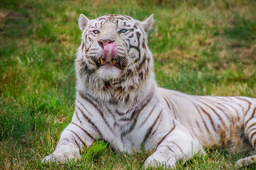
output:
[[[203,147],[252,152],[256,145],[256,99],[190,96],[157,87],[147,46],[153,15],[143,21],[125,15],[79,17],[76,109],[56,150],[43,162],[81,159],[96,139],[116,151],[153,151],[145,167],[175,167]],[[255,162],[256,156],[236,166]]]

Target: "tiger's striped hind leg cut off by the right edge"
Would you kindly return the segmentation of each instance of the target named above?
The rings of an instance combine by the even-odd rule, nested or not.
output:
[[[253,148],[256,151],[256,106],[250,102],[246,115],[244,117],[244,134],[252,146],[244,146],[245,148]],[[236,162],[237,167],[248,166],[256,163],[256,155],[239,159]]]

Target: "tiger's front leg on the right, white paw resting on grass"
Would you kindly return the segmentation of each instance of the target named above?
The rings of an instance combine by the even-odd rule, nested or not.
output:
[[[205,153],[198,140],[191,136],[182,125],[176,126],[172,132],[163,138],[156,151],[145,160],[144,166],[146,168],[175,167],[177,160],[190,159],[198,152]]]

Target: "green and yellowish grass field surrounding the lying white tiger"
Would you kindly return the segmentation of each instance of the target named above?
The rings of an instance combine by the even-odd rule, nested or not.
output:
[[[74,111],[80,13],[156,20],[148,45],[157,83],[188,94],[256,97],[256,1],[0,1],[0,169],[143,169],[149,152],[41,163]],[[89,152],[90,151],[90,152]],[[242,153],[208,148],[177,169],[234,169]],[[157,169],[162,169],[161,167]],[[256,166],[244,167],[256,169]]]

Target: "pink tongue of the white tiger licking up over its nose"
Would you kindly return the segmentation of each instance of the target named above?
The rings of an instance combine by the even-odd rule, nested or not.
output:
[[[106,43],[103,48],[102,59],[105,59],[105,62],[111,62],[112,59],[116,59],[117,45],[115,42]]]

